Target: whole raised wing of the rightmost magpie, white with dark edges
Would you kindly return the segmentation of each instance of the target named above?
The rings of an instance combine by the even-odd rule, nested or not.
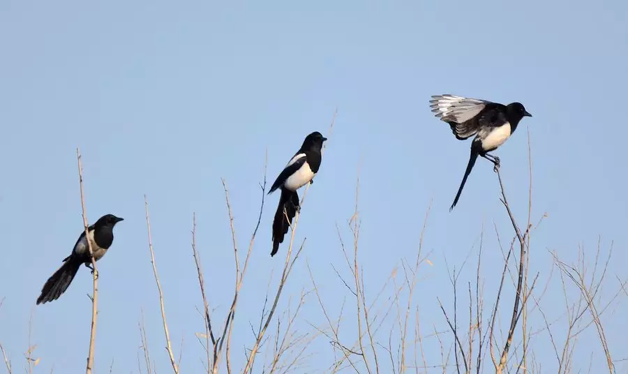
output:
[[[430,107],[435,116],[449,124],[459,140],[465,140],[477,133],[480,127],[478,114],[491,105],[491,101],[477,98],[464,98],[455,95],[435,95]]]

